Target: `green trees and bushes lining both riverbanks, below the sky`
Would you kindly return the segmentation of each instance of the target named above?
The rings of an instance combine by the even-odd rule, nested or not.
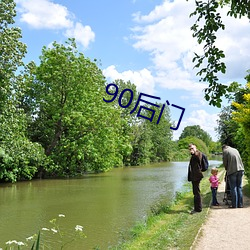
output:
[[[220,142],[212,142],[199,126],[186,127],[174,141],[170,127],[176,124],[168,105],[145,103],[138,117],[142,106],[136,86],[117,79],[117,89],[107,88],[97,61],[80,53],[74,39],[42,48],[37,64],[25,64],[28,48],[15,27],[15,2],[1,1],[0,9],[0,181],[187,160],[188,143],[210,154],[220,152],[220,142],[228,138],[242,149],[248,169],[250,148],[243,140],[249,134],[248,118],[242,116],[249,106],[248,88],[231,88],[235,102],[228,117],[235,118],[221,115]]]

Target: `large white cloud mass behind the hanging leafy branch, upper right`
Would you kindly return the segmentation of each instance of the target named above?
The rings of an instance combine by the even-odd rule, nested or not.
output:
[[[155,85],[167,89],[183,89],[192,92],[206,87],[197,82],[197,69],[193,69],[193,53],[202,52],[192,37],[191,25],[194,18],[189,18],[195,9],[194,1],[165,0],[150,13],[133,15],[137,25],[132,29],[134,48],[150,53]],[[234,19],[227,17],[227,9],[221,11],[226,30],[218,34],[217,44],[225,51],[228,66],[228,78],[244,78],[246,70],[250,68],[250,25],[247,18]],[[232,80],[232,81],[233,81]],[[200,85],[200,86],[199,86]],[[195,87],[194,87],[195,86]]]

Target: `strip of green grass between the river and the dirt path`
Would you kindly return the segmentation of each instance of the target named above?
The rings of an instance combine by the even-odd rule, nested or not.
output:
[[[220,172],[223,178],[223,170]],[[172,204],[153,207],[147,220],[137,224],[124,242],[111,249],[190,249],[208,213],[211,201],[208,177],[201,181],[201,193],[201,213],[189,214],[193,208],[193,194],[188,183],[183,192],[176,194]]]

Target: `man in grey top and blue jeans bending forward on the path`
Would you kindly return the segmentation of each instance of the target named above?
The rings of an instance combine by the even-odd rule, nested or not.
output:
[[[240,157],[240,153],[236,148],[228,145],[222,146],[223,151],[223,165],[227,171],[227,178],[230,185],[230,192],[232,197],[232,205],[230,208],[243,207],[242,196],[242,177],[244,174],[244,165]]]

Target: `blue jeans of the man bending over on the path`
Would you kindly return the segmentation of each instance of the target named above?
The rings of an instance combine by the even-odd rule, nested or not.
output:
[[[230,192],[232,196],[232,207],[243,207],[243,196],[242,196],[242,177],[244,171],[237,171],[236,173],[228,176],[230,185]]]

